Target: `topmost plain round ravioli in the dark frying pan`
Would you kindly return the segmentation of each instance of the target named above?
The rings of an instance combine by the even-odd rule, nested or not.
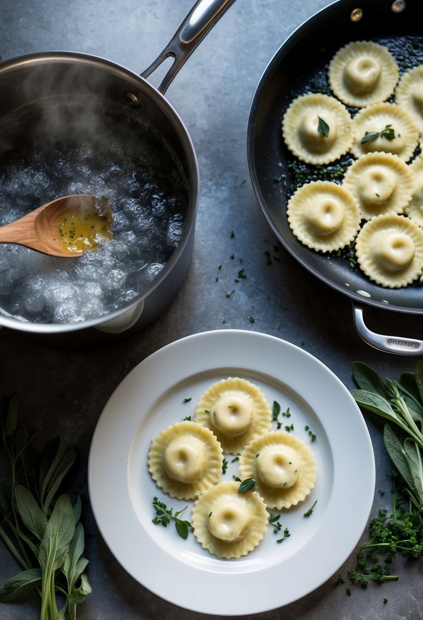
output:
[[[346,105],[357,108],[385,101],[398,82],[398,66],[388,48],[372,41],[348,43],[332,58],[329,86]]]

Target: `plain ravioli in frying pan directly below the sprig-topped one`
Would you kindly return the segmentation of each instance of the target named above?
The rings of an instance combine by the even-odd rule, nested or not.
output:
[[[398,156],[367,153],[347,169],[343,185],[357,199],[362,217],[370,219],[381,213],[403,213],[411,200],[413,179]]]

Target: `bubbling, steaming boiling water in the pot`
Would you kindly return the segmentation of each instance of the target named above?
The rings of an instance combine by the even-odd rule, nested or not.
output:
[[[163,136],[127,108],[53,97],[0,122],[0,225],[54,198],[107,195],[113,240],[75,259],[0,244],[0,307],[20,321],[69,323],[142,293],[177,247],[187,188]]]

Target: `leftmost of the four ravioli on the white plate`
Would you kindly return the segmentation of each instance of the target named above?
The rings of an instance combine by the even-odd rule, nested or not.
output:
[[[184,500],[216,484],[222,464],[222,449],[212,431],[188,420],[163,430],[148,453],[154,482],[171,497]]]

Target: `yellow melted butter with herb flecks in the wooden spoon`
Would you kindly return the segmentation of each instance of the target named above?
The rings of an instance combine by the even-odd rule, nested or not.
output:
[[[69,252],[94,250],[103,237],[113,239],[113,216],[107,198],[99,198],[87,209],[70,210],[58,222],[62,247]]]

